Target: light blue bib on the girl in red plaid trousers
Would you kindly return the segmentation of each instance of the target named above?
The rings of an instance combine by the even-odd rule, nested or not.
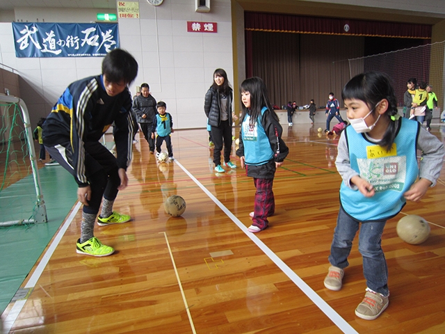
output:
[[[261,116],[268,110],[266,106],[261,109]],[[254,127],[250,127],[250,116],[246,115],[241,126],[241,136],[244,145],[245,164],[252,166],[264,165],[273,159],[273,150],[269,138],[258,118]]]

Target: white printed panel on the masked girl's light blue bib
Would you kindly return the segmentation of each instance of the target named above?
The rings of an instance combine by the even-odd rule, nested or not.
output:
[[[402,191],[406,178],[405,156],[357,159],[357,166],[360,177],[368,180],[376,192],[385,190]]]

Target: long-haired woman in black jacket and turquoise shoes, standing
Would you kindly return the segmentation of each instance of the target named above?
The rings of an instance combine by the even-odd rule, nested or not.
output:
[[[213,84],[207,90],[204,99],[204,112],[209,118],[211,136],[213,138],[213,164],[218,173],[224,173],[221,166],[221,150],[224,143],[224,166],[236,168],[230,161],[232,152],[232,112],[233,112],[233,90],[227,80],[227,73],[222,68],[213,72]]]

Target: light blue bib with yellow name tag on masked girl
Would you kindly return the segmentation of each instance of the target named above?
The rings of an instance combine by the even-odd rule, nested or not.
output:
[[[375,195],[364,197],[358,190],[341,182],[340,200],[343,209],[357,221],[376,221],[396,216],[405,205],[403,193],[410,189],[419,175],[416,141],[419,122],[401,118],[401,129],[390,152],[366,141],[353,127],[346,127],[350,166],[368,180]]]

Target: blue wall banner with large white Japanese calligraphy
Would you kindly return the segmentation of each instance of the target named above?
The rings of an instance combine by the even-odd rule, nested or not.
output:
[[[119,47],[118,24],[13,22],[18,58],[98,57]]]

